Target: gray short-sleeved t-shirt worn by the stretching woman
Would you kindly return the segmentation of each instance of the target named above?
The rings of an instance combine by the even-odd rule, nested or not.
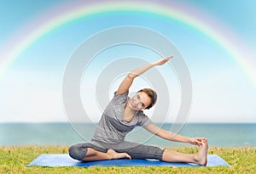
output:
[[[131,121],[125,121],[124,110],[129,101],[128,92],[115,94],[102,114],[92,141],[103,143],[119,143],[125,139],[125,135],[135,126],[146,127],[152,123],[143,110],[133,116]]]

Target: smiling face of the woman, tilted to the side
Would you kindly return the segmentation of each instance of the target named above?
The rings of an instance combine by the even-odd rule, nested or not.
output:
[[[129,106],[134,110],[146,109],[151,104],[151,98],[147,93],[140,92],[131,98]]]

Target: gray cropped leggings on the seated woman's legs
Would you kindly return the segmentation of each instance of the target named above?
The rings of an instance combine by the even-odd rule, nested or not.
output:
[[[119,153],[127,153],[134,159],[156,159],[162,160],[164,149],[154,147],[151,145],[144,145],[140,143],[133,143],[122,141],[120,143],[102,143],[102,142],[89,142],[89,143],[75,143],[69,147],[69,155],[75,160],[84,159],[87,148],[96,149],[100,152],[107,152],[108,149],[113,149]]]

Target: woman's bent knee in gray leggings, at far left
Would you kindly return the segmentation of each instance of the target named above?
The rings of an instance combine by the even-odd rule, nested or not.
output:
[[[87,154],[87,148],[81,146],[80,143],[73,144],[69,147],[68,153],[75,160],[83,160]]]

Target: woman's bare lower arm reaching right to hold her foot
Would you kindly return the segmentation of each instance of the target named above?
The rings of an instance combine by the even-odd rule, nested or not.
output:
[[[164,138],[169,141],[181,142],[181,143],[191,143],[193,145],[198,145],[198,146],[201,145],[202,139],[205,139],[205,138],[184,137],[177,133],[173,133],[173,132],[161,129],[159,126],[156,126],[154,123],[148,125],[146,127],[146,130],[148,130],[148,132],[154,133],[155,135],[159,136],[160,138]]]

